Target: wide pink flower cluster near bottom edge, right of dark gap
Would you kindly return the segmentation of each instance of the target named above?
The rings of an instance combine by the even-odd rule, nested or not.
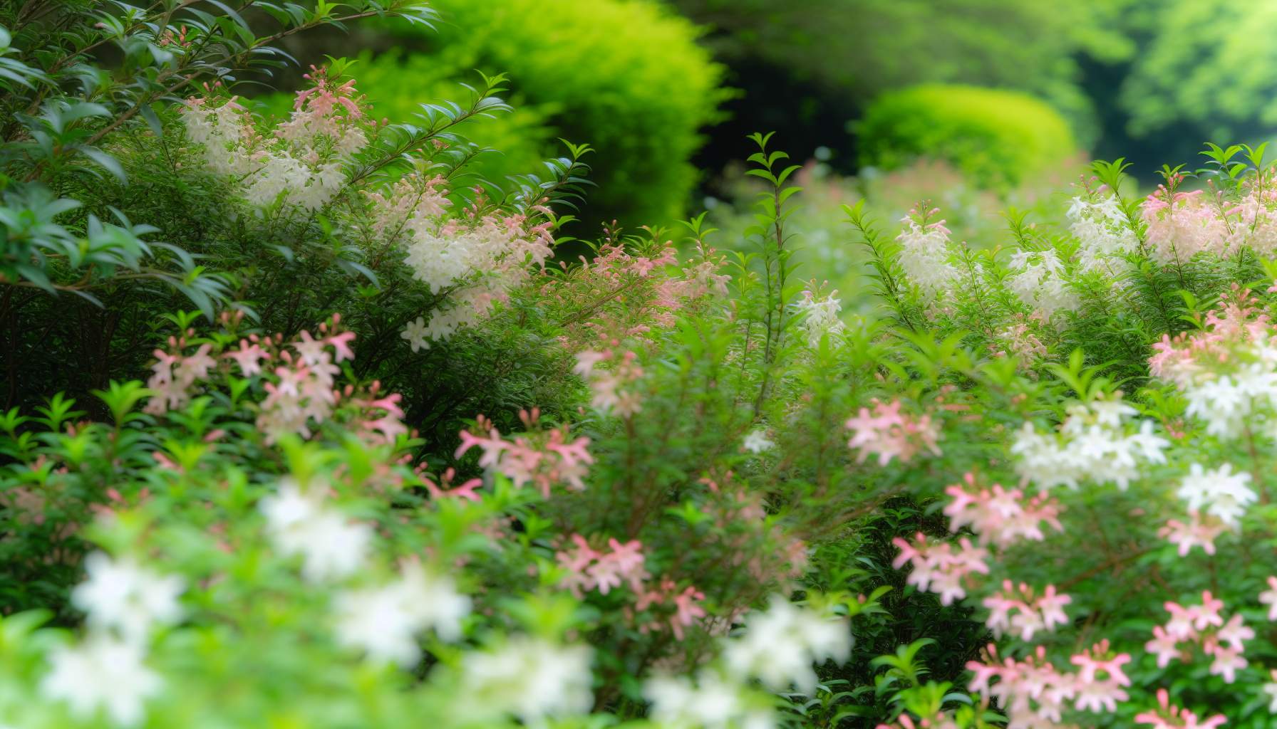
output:
[[[1121,666],[1130,663],[1130,654],[1114,654],[1107,640],[1070,656],[1069,663],[1078,666],[1075,673],[1056,669],[1042,646],[1023,661],[999,661],[996,646],[990,645],[983,663],[967,664],[976,674],[969,688],[996,698],[1009,726],[1024,728],[1054,726],[1070,703],[1078,711],[1111,714],[1119,701],[1129,698],[1124,687],[1130,686],[1130,679]]]

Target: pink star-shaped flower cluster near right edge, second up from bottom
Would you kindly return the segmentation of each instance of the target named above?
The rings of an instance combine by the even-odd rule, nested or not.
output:
[[[1200,605],[1188,608],[1167,601],[1166,610],[1171,619],[1165,626],[1153,627],[1153,640],[1144,643],[1144,650],[1157,655],[1157,666],[1166,668],[1172,659],[1186,660],[1188,651],[1180,643],[1197,643],[1202,652],[1211,656],[1211,674],[1223,677],[1225,683],[1236,680],[1237,670],[1246,668],[1243,658],[1245,641],[1255,637],[1255,631],[1241,624],[1241,615],[1234,615],[1227,622],[1220,614],[1223,600],[1209,591],[1202,592]]]

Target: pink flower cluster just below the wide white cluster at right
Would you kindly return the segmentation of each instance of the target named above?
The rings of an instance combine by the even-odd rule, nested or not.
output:
[[[953,502],[945,507],[950,531],[969,526],[981,544],[1008,546],[1018,540],[1042,541],[1043,525],[1064,531],[1060,525],[1060,503],[1046,494],[1025,499],[1020,489],[1005,489],[1000,484],[981,488],[976,474],[967,472],[964,484],[953,484],[945,493]]]

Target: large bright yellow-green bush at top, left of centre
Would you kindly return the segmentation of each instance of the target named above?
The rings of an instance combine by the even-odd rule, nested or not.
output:
[[[661,6],[636,0],[508,0],[433,4],[437,31],[416,31],[360,66],[360,89],[392,121],[410,121],[423,100],[471,80],[474,69],[510,75],[521,116],[483,120],[466,130],[497,147],[489,179],[529,171],[561,151],[558,138],[585,142],[591,157],[582,217],[637,226],[683,214],[696,183],[691,156],[699,130],[718,119],[723,70],[696,45],[697,28]],[[384,111],[382,111],[384,110]],[[510,142],[517,139],[517,144]]]

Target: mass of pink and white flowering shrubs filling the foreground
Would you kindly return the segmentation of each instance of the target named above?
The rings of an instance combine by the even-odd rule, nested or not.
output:
[[[853,314],[769,135],[732,253],[701,216],[561,260],[587,149],[457,181],[501,79],[393,126],[335,61],[264,119],[163,70],[236,13],[114,8],[88,43],[180,88],[4,147],[0,724],[1272,723],[1263,148],[1145,198],[1098,162],[1005,246],[848,207]],[[89,60],[14,43],[37,97]]]

